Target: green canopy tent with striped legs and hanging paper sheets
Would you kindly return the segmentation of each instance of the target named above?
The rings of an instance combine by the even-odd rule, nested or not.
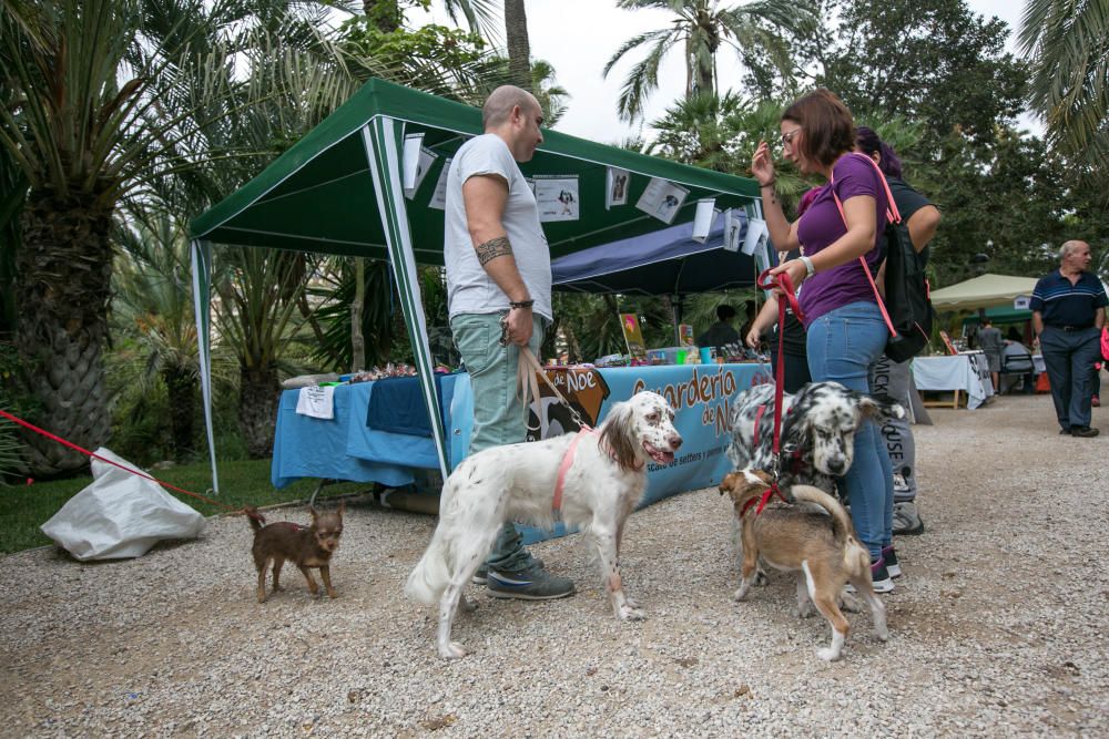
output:
[[[262,174],[191,223],[197,330],[204,337],[202,390],[216,490],[211,384],[206,379],[207,270],[213,243],[387,259],[413,338],[439,464],[447,474],[416,265],[442,265],[444,212],[438,183],[450,156],[467,138],[480,133],[478,109],[370,80]],[[577,217],[554,216],[543,224],[552,258],[691,222],[696,203],[704,198],[713,198],[719,209],[746,208],[749,215],[757,215],[759,186],[751,179],[556,131],[545,131],[543,136],[532,161],[521,165],[525,175],[536,182],[537,195],[545,185],[577,186]],[[406,152],[420,151],[421,157],[406,156]],[[411,164],[406,165],[406,160]],[[624,204],[608,204],[610,168],[630,174]],[[669,224],[637,207],[652,184],[648,195],[668,184],[685,193]]]

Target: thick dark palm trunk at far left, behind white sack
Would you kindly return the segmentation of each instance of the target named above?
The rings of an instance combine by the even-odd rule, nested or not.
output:
[[[17,257],[16,346],[26,387],[39,403],[31,421],[85,449],[111,434],[103,345],[111,295],[111,208],[94,196],[57,199],[35,191],[22,214]],[[80,452],[27,432],[27,472],[48,476],[88,464]]]

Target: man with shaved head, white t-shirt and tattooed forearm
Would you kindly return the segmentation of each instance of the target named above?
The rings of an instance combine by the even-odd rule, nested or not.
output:
[[[481,120],[485,134],[462,144],[451,162],[444,228],[450,330],[474,392],[470,453],[527,441],[516,388],[520,349],[538,353],[552,317],[550,249],[517,165],[543,142],[542,111],[530,93],[503,85],[489,95]],[[475,578],[495,597],[573,593],[573,581],[543,569],[511,523]]]

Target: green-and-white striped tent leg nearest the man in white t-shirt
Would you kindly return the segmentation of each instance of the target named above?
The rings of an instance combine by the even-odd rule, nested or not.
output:
[[[427,339],[427,319],[424,317],[424,304],[420,299],[419,275],[416,271],[416,256],[413,252],[408,209],[405,205],[404,187],[400,182],[403,136],[404,126],[397,125],[394,119],[383,115],[374,116],[362,129],[366,162],[374,177],[377,213],[381,218],[385,240],[389,247],[389,267],[391,267],[393,278],[397,283],[405,325],[408,327],[408,335],[411,338],[416,370],[419,373],[424,400],[427,402],[435,450],[439,456],[439,471],[442,473],[442,479],[446,480],[450,474],[450,464],[447,461],[446,432],[442,424],[442,412],[439,408],[439,393],[436,391],[431,349]]]

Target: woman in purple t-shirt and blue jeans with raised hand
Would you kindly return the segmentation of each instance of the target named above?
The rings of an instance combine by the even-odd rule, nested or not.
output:
[[[858,259],[863,257],[873,274],[878,235],[886,227],[882,175],[865,155],[852,153],[855,124],[851,111],[827,90],[811,92],[790,105],[782,114],[781,131],[785,157],[802,173],[821,174],[828,183],[791,224],[774,192],[770,146],[759,144],[751,170],[762,187],[771,240],[779,252],[800,248],[802,254],[773,274],[788,273],[793,285],[800,286],[813,380],[832,380],[866,392],[868,368],[882,357],[889,337]],[[855,434],[855,460],[842,483],[855,530],[871,552],[874,588],[889,592],[893,581],[883,550],[893,553],[893,470],[882,434],[869,421]]]

